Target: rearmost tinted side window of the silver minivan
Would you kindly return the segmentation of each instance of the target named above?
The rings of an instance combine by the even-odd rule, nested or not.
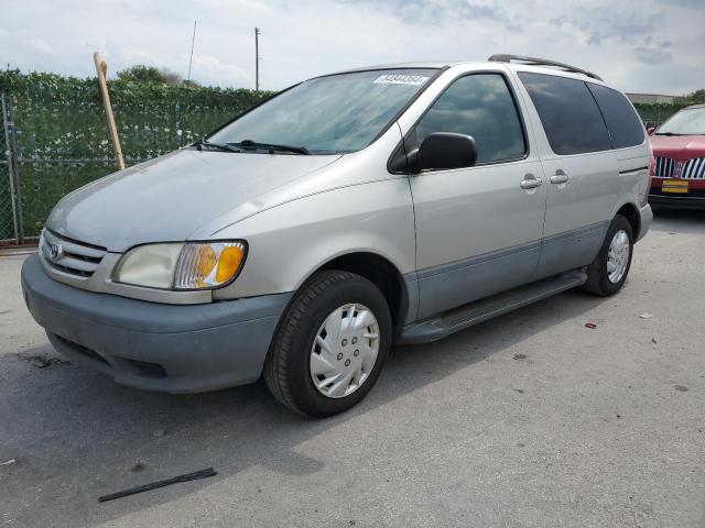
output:
[[[612,139],[612,146],[623,148],[643,143],[643,124],[627,98],[617,90],[605,86],[588,82],[587,87],[603,111],[609,135]]]

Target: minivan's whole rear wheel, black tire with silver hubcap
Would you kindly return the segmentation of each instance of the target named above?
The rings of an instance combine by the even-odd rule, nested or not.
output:
[[[625,255],[623,251],[619,249],[615,251],[614,248],[612,255],[618,255],[617,261],[615,261],[614,256],[610,255],[610,245],[618,233],[620,233],[621,244],[620,241],[617,241],[617,246],[621,245],[621,248],[626,248],[623,251],[628,251],[629,254]],[[627,240],[623,240],[625,235]],[[621,215],[617,215],[607,229],[607,235],[605,237],[599,253],[587,268],[587,282],[583,285],[583,289],[600,297],[615,295],[619,292],[627,280],[627,275],[629,275],[633,248],[634,238],[631,223]],[[618,262],[618,264],[616,264],[618,272],[622,271],[623,267],[621,274],[615,274],[614,268],[608,262],[610,258],[612,258],[611,262]]]

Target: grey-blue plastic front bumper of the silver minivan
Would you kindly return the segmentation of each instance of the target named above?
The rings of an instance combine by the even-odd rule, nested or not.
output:
[[[87,292],[22,266],[30,312],[54,348],[133,387],[193,393],[259,378],[292,294],[164,305]]]

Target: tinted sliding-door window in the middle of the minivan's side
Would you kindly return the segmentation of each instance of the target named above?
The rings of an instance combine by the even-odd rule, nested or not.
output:
[[[611,148],[597,103],[582,80],[522,72],[523,81],[556,154]]]

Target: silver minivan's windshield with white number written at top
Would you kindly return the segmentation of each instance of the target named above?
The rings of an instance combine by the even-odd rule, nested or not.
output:
[[[435,72],[387,69],[306,80],[238,118],[208,141],[241,144],[250,140],[305,147],[312,154],[359,151]]]

